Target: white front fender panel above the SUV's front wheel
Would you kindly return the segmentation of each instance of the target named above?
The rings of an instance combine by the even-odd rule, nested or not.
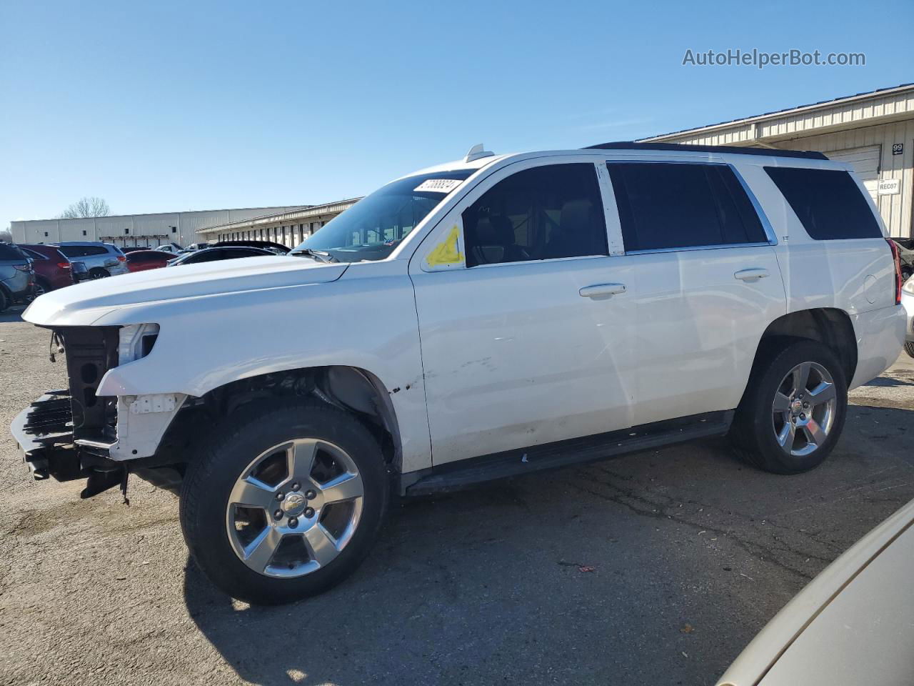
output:
[[[103,396],[201,396],[231,381],[345,365],[374,374],[390,394],[403,470],[430,466],[419,324],[405,263],[354,264],[324,284],[138,305],[96,326],[158,324],[148,356],[109,370]]]

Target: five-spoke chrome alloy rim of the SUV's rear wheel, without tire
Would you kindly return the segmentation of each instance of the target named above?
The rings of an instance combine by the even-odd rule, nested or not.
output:
[[[818,362],[802,362],[787,373],[774,394],[774,437],[788,455],[806,456],[824,444],[834,424],[832,375]]]

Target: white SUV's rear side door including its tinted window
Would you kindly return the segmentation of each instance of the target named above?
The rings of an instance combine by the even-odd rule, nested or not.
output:
[[[636,309],[634,423],[730,410],[786,312],[774,236],[736,170],[609,161]]]

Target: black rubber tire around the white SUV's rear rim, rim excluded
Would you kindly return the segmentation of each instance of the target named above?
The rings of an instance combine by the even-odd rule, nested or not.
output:
[[[739,403],[729,438],[739,457],[751,466],[774,474],[799,474],[822,464],[844,429],[847,415],[845,371],[834,353],[821,343],[800,340],[760,350],[749,384]],[[778,443],[772,402],[781,381],[803,362],[822,365],[834,381],[834,420],[824,442],[806,456],[789,455]]]

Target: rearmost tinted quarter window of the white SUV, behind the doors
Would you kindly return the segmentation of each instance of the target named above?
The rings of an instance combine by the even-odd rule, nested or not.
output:
[[[869,203],[848,172],[792,166],[766,166],[765,171],[810,238],[882,238]]]

